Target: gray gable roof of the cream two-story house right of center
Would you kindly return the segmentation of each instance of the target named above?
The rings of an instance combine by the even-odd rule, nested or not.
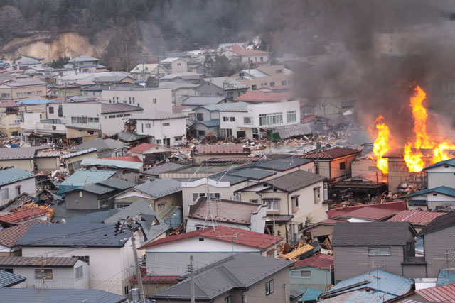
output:
[[[289,172],[289,174],[276,177],[264,183],[281,189],[284,192],[294,192],[323,180],[326,180],[326,177],[304,170],[296,170],[295,172]]]

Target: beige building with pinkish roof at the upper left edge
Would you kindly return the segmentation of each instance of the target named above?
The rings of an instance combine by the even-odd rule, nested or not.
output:
[[[47,84],[36,78],[12,79],[0,84],[0,101],[21,101],[47,94]]]

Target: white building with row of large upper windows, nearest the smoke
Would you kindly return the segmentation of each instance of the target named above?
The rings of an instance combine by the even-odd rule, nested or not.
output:
[[[264,102],[245,107],[220,109],[220,136],[259,136],[259,128],[274,128],[300,123],[300,102]]]

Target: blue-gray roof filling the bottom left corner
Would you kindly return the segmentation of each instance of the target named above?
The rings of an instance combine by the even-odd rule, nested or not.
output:
[[[127,298],[103,290],[49,290],[39,288],[0,287],[4,302],[46,302],[46,303],[118,303]]]

